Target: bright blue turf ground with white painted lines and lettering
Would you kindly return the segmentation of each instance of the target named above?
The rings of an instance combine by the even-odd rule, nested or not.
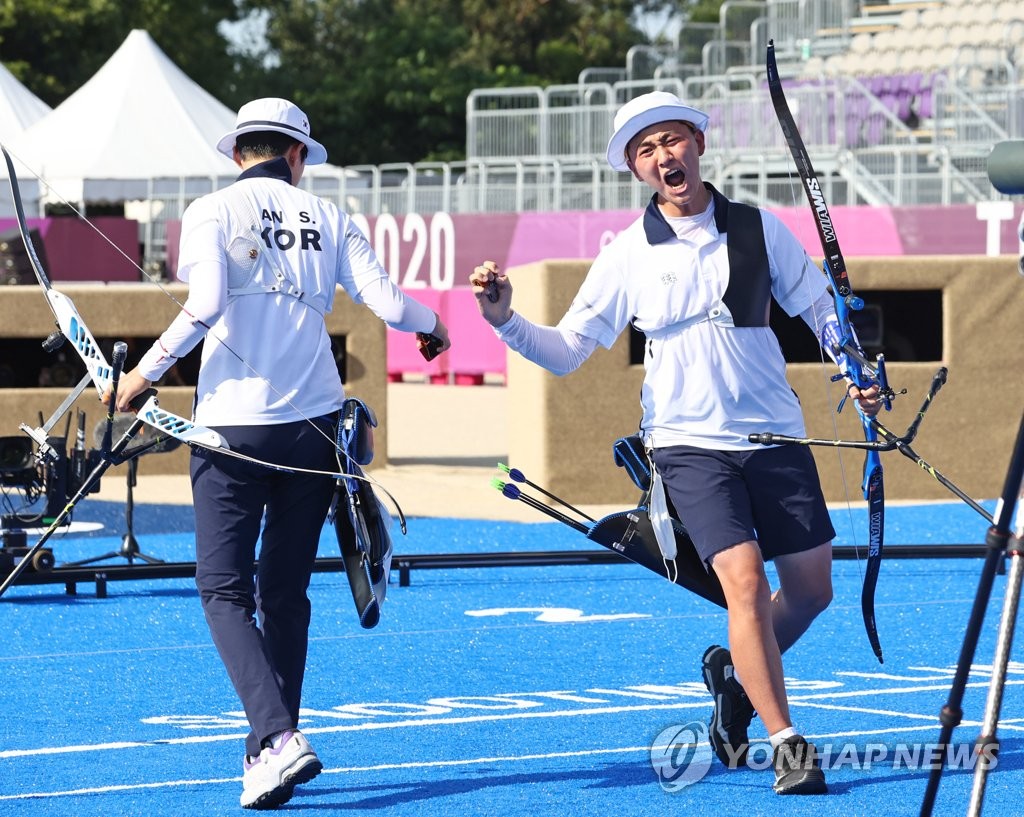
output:
[[[989,508],[991,506],[988,506]],[[83,504],[100,535],[68,538],[58,561],[120,546],[122,506]],[[88,513],[87,513],[88,512]],[[859,512],[855,512],[859,513]],[[846,511],[836,527],[850,530]],[[863,529],[855,519],[855,529]],[[887,542],[974,543],[986,524],[956,505],[887,508]],[[188,509],[139,506],[143,551],[191,558]],[[849,538],[847,538],[849,541]],[[858,543],[861,544],[861,543]],[[557,523],[412,519],[407,553],[590,548]],[[328,532],[322,553],[334,556]],[[886,663],[860,618],[862,562],[837,562],[836,601],[786,654],[796,723],[838,755],[849,743],[895,751],[934,742],[974,600],[980,559],[887,560],[877,610]],[[978,735],[1006,590],[997,576],[955,739]],[[927,773],[849,764],[825,799],[780,801],[768,771],[712,765],[663,790],[650,745],[705,721],[699,676],[725,615],[632,565],[414,571],[392,585],[381,625],[361,631],[345,579],[313,577],[302,724],[325,773],[285,810],[310,814],[914,815]],[[237,814],[242,736],[189,579],[112,583],[97,599],[60,586],[16,587],[0,600],[2,815]],[[1019,660],[1019,649],[1012,657]],[[999,767],[986,815],[1020,813],[1024,665],[1006,687]],[[755,721],[752,734],[760,735]],[[697,751],[696,762],[701,761]],[[970,772],[943,774],[936,814],[966,812]]]

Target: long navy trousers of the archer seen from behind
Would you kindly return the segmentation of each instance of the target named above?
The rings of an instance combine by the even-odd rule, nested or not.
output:
[[[315,428],[302,421],[216,430],[242,454],[335,471],[335,422],[332,415]],[[298,725],[310,618],[306,590],[335,483],[195,448],[190,471],[196,586],[252,730],[246,754],[255,756],[266,737]]]

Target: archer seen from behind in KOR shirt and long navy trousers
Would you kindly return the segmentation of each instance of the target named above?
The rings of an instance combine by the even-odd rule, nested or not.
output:
[[[346,214],[296,186],[307,164],[327,161],[298,107],[286,99],[247,102],[217,147],[242,175],[185,211],[177,274],[188,282],[188,300],[124,376],[117,407],[127,411],[205,337],[196,422],[242,454],[337,471],[344,390],[324,324],[336,287],[394,329],[433,334],[441,349],[451,345],[447,330],[391,283]],[[196,584],[251,727],[241,803],[275,808],[322,768],[296,727],[306,588],[335,483],[201,448],[193,449],[190,470]]]

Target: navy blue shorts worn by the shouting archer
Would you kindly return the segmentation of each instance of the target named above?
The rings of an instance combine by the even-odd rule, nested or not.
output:
[[[673,445],[655,448],[654,464],[706,563],[740,542],[756,541],[768,561],[836,535],[806,446],[720,451]]]

